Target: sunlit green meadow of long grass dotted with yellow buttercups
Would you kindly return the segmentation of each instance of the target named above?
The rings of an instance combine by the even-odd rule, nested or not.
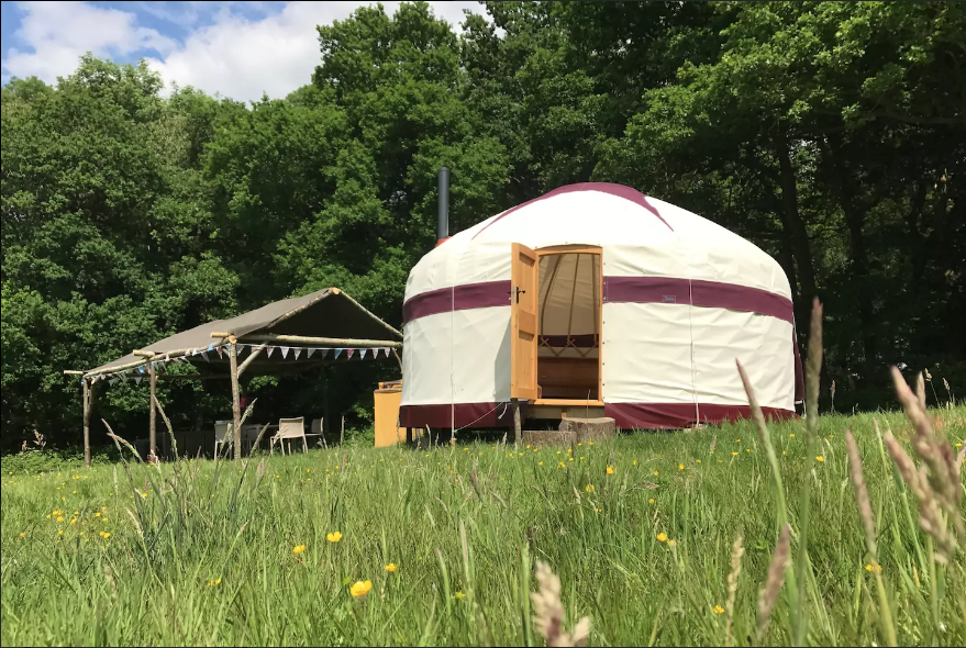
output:
[[[962,444],[966,407],[939,415]],[[909,438],[901,414],[877,417]],[[803,422],[770,427],[793,528],[811,483],[809,643],[888,640],[846,427],[899,644],[966,644],[963,554],[933,566],[873,415],[822,417],[814,456]],[[769,462],[748,422],[573,448],[462,438],[255,459],[246,471],[197,461],[131,472],[133,484],[121,465],[3,476],[4,646],[538,645],[536,560],[560,578],[566,626],[590,617],[591,645],[721,645],[739,533],[733,643],[748,645],[778,537]],[[341,539],[326,539],[334,532]],[[368,594],[353,596],[367,580]],[[788,591],[766,644],[791,643]]]

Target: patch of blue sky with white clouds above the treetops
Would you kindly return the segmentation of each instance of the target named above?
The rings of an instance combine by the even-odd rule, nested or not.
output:
[[[2,2],[2,79],[68,76],[86,52],[118,63],[144,58],[165,81],[209,94],[276,99],[310,82],[320,62],[315,25],[375,1]],[[382,2],[395,13],[399,2]],[[457,31],[478,2],[430,2]]]

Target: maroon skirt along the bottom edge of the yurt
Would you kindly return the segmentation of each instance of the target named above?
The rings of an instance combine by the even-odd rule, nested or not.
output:
[[[402,427],[507,427],[513,424],[509,403],[456,403],[455,405],[402,405],[399,424]],[[525,407],[525,404],[523,405]],[[718,424],[751,417],[747,405],[714,405],[698,403],[604,403],[604,413],[621,429],[677,429],[695,423]],[[796,413],[778,407],[762,407],[766,418],[782,421]],[[526,411],[521,411],[526,416]]]

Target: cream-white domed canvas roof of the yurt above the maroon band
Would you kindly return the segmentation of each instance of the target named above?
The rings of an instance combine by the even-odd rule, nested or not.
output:
[[[555,189],[455,234],[413,268],[406,299],[448,286],[509,278],[509,245],[603,248],[609,277],[675,277],[757,288],[791,299],[768,254],[679,206],[608,182]]]

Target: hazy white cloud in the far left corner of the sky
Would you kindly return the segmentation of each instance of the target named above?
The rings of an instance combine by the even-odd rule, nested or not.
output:
[[[16,32],[33,52],[11,47],[3,57],[3,74],[37,76],[53,82],[77,68],[86,52],[97,56],[125,56],[156,52],[167,56],[177,42],[157,30],[137,25],[137,16],[84,2],[21,2],[26,15]]]

